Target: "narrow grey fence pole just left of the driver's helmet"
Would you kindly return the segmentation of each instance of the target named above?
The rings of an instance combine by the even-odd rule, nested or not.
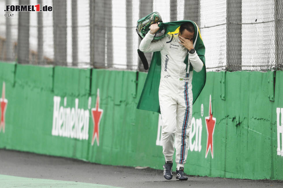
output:
[[[133,69],[133,3],[126,0],[126,50],[127,50],[127,69]]]

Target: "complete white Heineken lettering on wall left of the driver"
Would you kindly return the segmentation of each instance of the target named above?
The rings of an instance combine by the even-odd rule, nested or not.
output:
[[[60,106],[61,97],[54,96],[52,135],[88,140],[89,110],[79,109],[79,99],[75,99],[75,108]]]

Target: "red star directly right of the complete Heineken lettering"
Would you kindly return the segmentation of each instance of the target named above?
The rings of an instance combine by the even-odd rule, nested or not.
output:
[[[95,108],[91,109],[92,114],[92,121],[93,121],[93,134],[92,134],[92,143],[94,144],[94,140],[96,138],[97,145],[99,146],[99,124],[100,119],[103,113],[103,110],[99,108],[99,89],[97,89],[97,97],[96,97],[96,104]]]

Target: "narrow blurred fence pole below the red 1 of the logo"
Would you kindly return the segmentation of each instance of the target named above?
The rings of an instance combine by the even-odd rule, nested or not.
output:
[[[38,4],[42,8],[42,0],[38,0]],[[43,18],[42,12],[37,13],[37,63],[44,64],[43,61]]]

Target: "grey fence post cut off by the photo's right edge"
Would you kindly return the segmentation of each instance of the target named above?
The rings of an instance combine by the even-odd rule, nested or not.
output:
[[[275,0],[275,63],[283,69],[283,2]]]

